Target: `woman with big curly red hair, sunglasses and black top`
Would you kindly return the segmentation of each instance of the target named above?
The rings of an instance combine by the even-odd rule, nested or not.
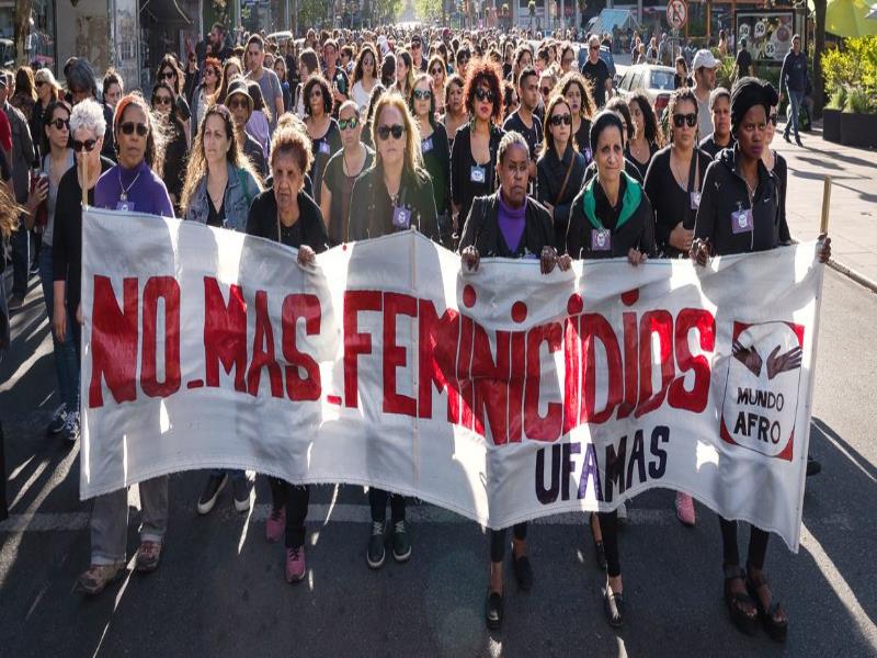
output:
[[[464,98],[471,122],[457,131],[451,149],[451,195],[454,228],[469,216],[476,196],[497,189],[497,150],[503,132],[502,89],[499,72],[489,61],[470,64]]]

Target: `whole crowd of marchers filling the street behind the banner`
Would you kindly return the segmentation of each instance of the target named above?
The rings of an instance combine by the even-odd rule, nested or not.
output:
[[[48,432],[79,438],[83,197],[276,240],[296,248],[303,266],[333,246],[410,228],[456,250],[465,270],[482,257],[532,258],[543,273],[613,257],[702,266],[790,243],[786,164],[770,148],[778,91],[750,76],[717,88],[717,60],[702,50],[693,86],[680,86],[658,116],[647,95],[615,93],[600,47],[596,35],[533,43],[448,29],[311,30],[301,44],[253,34],[232,47],[217,24],[185,66],[164,56],[145,92],[127,91],[110,70],[99,93],[84,59],[67,63],[64,84],[48,69],[2,71],[0,232],[11,240],[10,308],[21,307],[33,272],[42,283],[61,401]],[[823,236],[819,258],[829,254]],[[808,474],[818,468],[810,462]],[[193,506],[200,514],[229,481],[236,509],[249,509],[247,474],[217,469]],[[306,572],[309,487],[270,485],[266,540],[284,542],[285,577],[296,582]],[[168,525],[168,478],[139,488],[136,568],[151,571]],[[368,567],[381,567],[388,544],[408,560],[405,498],[372,488],[368,499]],[[126,501],[119,490],[93,502],[84,592],[124,570]],[[677,494],[675,509],[696,523],[690,496]],[[590,517],[613,626],[625,619],[619,518],[623,504]],[[731,620],[784,638],[788,620],[763,570],[768,533],[752,527],[742,564],[737,523],[720,521]],[[489,544],[485,619],[496,629],[506,531],[492,531]],[[512,529],[511,545],[514,577],[529,589],[526,523]]]

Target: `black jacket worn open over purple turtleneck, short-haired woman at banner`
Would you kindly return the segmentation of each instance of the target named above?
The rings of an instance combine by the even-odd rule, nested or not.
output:
[[[463,237],[459,240],[459,251],[466,247],[475,246],[483,258],[524,258],[533,256],[538,258],[544,247],[555,246],[555,228],[548,209],[532,196],[527,196],[527,207],[524,214],[524,236],[516,251],[506,247],[502,239],[499,215],[500,192],[489,196],[478,196],[472,201],[471,211],[463,227]]]

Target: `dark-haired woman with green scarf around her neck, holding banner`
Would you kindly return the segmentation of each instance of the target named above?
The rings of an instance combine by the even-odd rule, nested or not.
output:
[[[601,112],[591,125],[596,175],[572,201],[566,251],[576,259],[626,257],[636,266],[654,252],[654,219],[640,184],[625,172],[625,126]],[[620,506],[619,506],[620,507]],[[613,627],[624,623],[624,586],[618,553],[618,510],[590,515],[597,566],[606,570],[603,606]]]

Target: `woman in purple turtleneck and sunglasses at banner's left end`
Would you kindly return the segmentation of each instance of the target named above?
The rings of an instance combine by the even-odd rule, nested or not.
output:
[[[94,205],[123,213],[147,213],[173,217],[168,189],[156,172],[163,156],[163,141],[149,105],[139,92],[116,105],[113,134],[118,164],[107,169],[94,186]],[[140,548],[136,568],[155,571],[159,565],[168,527],[168,476],[139,484],[141,504]],[[94,499],[91,512],[91,566],[79,577],[79,588],[98,594],[125,568],[128,526],[128,492],[118,489]]]

